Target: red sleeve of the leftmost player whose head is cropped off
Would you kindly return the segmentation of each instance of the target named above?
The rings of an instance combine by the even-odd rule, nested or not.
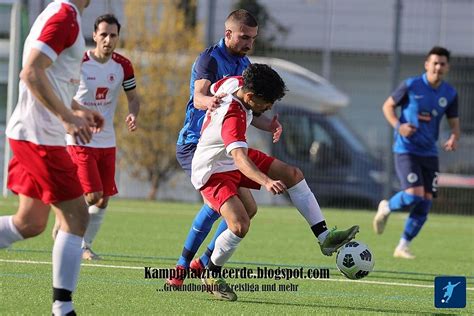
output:
[[[76,12],[73,8],[63,5],[46,21],[33,47],[55,61],[63,50],[76,42],[78,34]]]

